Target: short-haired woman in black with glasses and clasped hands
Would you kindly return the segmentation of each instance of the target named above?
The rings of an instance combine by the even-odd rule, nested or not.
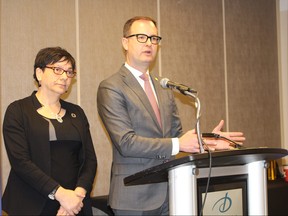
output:
[[[33,75],[38,90],[6,110],[11,171],[2,204],[8,215],[92,215],[97,159],[89,123],[81,107],[60,99],[75,67],[66,50],[41,49]]]

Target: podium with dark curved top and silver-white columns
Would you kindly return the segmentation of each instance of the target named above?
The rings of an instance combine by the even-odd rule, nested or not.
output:
[[[206,190],[204,215],[267,215],[267,161],[287,155],[266,147],[192,154],[130,175],[124,184],[168,181],[170,215],[199,215]]]

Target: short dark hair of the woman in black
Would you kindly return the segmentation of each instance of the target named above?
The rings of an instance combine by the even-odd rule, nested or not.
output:
[[[61,47],[46,47],[41,49],[35,58],[34,62],[34,74],[33,77],[36,80],[38,86],[40,86],[39,80],[36,76],[36,69],[40,68],[42,70],[49,64],[54,64],[59,61],[68,61],[72,65],[73,71],[76,69],[76,63],[73,56]]]

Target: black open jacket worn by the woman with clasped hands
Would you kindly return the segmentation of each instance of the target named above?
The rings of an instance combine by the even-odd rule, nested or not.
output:
[[[9,215],[40,214],[48,194],[58,185],[50,177],[49,123],[37,113],[41,104],[35,93],[11,103],[4,117],[3,136],[11,170],[2,208]],[[80,106],[60,103],[81,137],[77,187],[85,188],[89,197],[97,168],[89,123]]]

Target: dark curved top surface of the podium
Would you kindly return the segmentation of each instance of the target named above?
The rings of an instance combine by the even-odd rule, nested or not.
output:
[[[288,155],[287,149],[281,148],[240,148],[211,153],[212,167],[245,165],[255,161],[276,160]],[[145,169],[124,178],[124,184],[140,185],[168,181],[168,171],[178,166],[195,165],[197,168],[209,167],[209,153],[184,156],[166,163]]]

